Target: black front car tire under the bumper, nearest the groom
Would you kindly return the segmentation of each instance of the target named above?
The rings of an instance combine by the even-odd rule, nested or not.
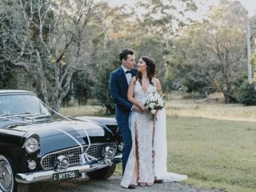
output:
[[[93,180],[105,180],[107,178],[110,178],[116,170],[116,164],[105,167],[99,170],[95,170],[92,172],[88,172],[87,175]]]

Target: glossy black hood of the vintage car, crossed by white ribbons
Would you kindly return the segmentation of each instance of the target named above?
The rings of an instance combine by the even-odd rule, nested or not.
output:
[[[37,134],[40,137],[40,153],[38,157],[53,151],[63,150],[90,143],[113,142],[114,138],[110,132],[93,122],[61,121],[28,126],[17,126],[14,130],[26,131],[24,140]],[[23,140],[23,142],[24,142]]]

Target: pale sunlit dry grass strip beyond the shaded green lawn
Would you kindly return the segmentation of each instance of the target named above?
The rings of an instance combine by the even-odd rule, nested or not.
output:
[[[177,91],[167,95],[166,113],[168,115],[256,122],[256,106],[223,104],[210,102],[211,100],[205,102],[206,99],[182,99],[183,95]],[[211,98],[222,100],[223,96],[212,94]]]

